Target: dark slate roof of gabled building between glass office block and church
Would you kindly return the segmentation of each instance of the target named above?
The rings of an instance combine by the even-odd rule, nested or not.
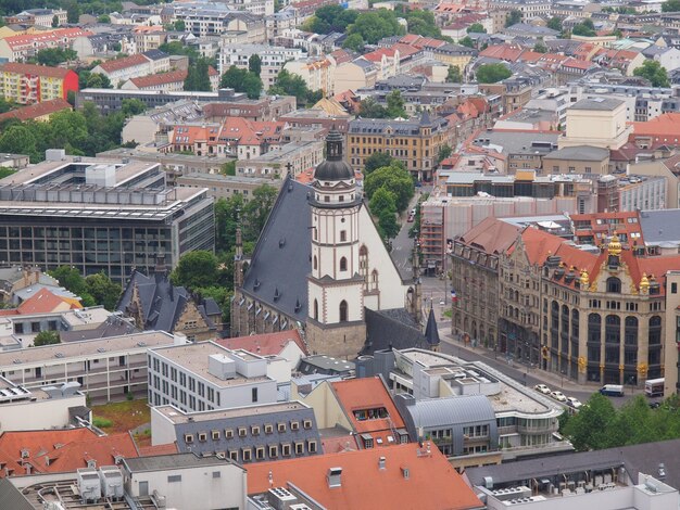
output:
[[[174,331],[187,303],[191,301],[189,292],[184,286],[173,285],[165,272],[148,277],[135,271],[118,301],[116,310],[127,316],[137,315],[137,305],[133,301],[135,288],[139,293],[144,330]],[[212,327],[213,322],[205,315],[205,308],[199,304],[197,308],[205,322]]]

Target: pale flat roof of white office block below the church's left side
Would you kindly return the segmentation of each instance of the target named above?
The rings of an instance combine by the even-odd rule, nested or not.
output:
[[[253,358],[248,358],[243,356],[242,353],[229,350],[228,348],[222,347],[221,345],[214,344],[212,342],[198,342],[196,344],[167,346],[165,348],[153,349],[153,352],[156,355],[164,357],[168,361],[172,361],[175,365],[193,372],[196,375],[204,379],[205,381],[210,381],[215,386],[229,387],[238,386],[240,384],[250,384],[253,382],[272,381],[272,379],[267,375],[247,378],[239,374],[238,372],[236,373],[236,377],[234,379],[227,380],[219,379],[213,375],[207,369],[209,356],[212,356],[214,354],[226,355],[227,353],[237,353],[241,358],[245,359],[247,361],[256,357],[249,353],[249,355],[253,356]]]

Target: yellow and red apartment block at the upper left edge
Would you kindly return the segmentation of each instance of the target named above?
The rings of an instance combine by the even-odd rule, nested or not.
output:
[[[33,104],[55,99],[68,99],[78,91],[78,75],[62,67],[17,64],[0,66],[0,97],[5,101]]]

